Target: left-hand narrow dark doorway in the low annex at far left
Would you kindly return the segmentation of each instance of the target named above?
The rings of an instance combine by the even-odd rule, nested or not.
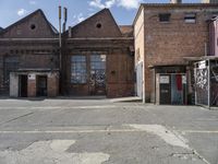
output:
[[[27,75],[19,77],[19,96],[27,97]]]

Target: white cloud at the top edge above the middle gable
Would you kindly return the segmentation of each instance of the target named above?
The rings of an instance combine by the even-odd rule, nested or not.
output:
[[[144,2],[144,0],[106,0],[105,2],[102,0],[92,0],[88,4],[98,9],[112,8],[113,5],[125,9],[137,9],[141,2]]]

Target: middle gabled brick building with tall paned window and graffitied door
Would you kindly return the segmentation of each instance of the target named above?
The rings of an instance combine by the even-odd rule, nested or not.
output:
[[[108,9],[70,27],[63,39],[66,95],[134,95],[133,27],[118,26]]]

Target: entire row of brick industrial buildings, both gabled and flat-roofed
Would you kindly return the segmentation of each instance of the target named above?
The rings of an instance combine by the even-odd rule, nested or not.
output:
[[[141,4],[133,25],[119,26],[104,9],[64,31],[60,46],[37,10],[0,31],[0,93],[217,105],[217,3],[173,0]]]

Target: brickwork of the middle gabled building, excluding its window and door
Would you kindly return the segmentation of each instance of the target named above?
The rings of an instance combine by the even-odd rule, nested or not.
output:
[[[104,9],[66,33],[61,82],[65,94],[93,95],[90,58],[106,55],[106,96],[134,95],[133,26],[118,26],[110,11]],[[86,58],[87,81],[83,84],[71,82],[72,56]]]

